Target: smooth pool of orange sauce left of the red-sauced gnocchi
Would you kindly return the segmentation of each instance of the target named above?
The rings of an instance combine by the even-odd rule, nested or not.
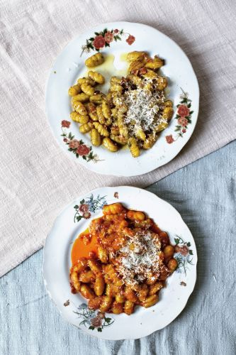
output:
[[[97,250],[96,236],[91,236],[89,229],[86,229],[79,234],[72,246],[72,266],[77,264],[80,258],[91,257],[91,252],[97,255]]]

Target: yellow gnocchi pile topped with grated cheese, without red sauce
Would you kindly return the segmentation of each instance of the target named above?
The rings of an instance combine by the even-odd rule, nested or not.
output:
[[[128,145],[134,158],[141,149],[152,148],[159,132],[167,128],[174,113],[172,101],[165,97],[167,78],[159,75],[164,60],[145,52],[127,55],[128,75],[111,77],[108,93],[96,89],[105,83],[101,73],[89,70],[69,88],[71,119],[80,124],[81,133],[90,133],[93,146],[103,145],[116,152]],[[101,65],[105,58],[96,53],[86,59],[86,67]]]

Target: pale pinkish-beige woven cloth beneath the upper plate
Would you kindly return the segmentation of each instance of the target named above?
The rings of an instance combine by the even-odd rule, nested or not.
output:
[[[80,194],[102,185],[150,185],[236,138],[235,9],[229,0],[0,0],[0,275],[43,245],[62,207]],[[169,35],[200,84],[189,143],[171,163],[137,178],[82,168],[57,146],[45,118],[52,62],[74,36],[108,21],[146,23]]]

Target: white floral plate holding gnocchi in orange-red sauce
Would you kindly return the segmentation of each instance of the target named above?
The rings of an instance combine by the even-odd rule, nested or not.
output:
[[[130,316],[89,310],[84,297],[73,295],[69,287],[74,240],[91,219],[101,217],[103,204],[117,201],[147,212],[167,231],[179,262],[179,268],[167,278],[167,288],[160,291],[159,302],[147,309],[136,307]],[[101,187],[78,197],[57,217],[45,241],[43,274],[47,292],[69,323],[102,339],[137,339],[166,327],[184,309],[196,283],[196,263],[193,236],[174,207],[136,187]]]

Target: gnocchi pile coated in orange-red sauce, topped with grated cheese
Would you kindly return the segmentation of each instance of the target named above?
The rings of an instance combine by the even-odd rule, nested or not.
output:
[[[105,205],[103,217],[79,238],[86,247],[95,239],[96,251],[72,265],[70,285],[93,310],[131,315],[136,305],[152,307],[178,266],[167,233],[144,212],[118,202]]]

